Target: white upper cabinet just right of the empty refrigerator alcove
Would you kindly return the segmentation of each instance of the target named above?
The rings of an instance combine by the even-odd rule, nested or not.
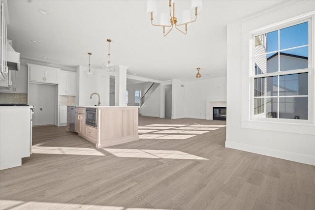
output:
[[[76,95],[76,73],[60,70],[58,72],[59,95]]]

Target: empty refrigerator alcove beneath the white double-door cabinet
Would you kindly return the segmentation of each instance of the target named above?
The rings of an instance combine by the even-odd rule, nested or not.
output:
[[[32,116],[33,125],[55,124],[56,85],[29,85],[29,104],[35,106]]]

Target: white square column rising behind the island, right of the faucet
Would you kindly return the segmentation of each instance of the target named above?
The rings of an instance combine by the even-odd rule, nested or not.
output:
[[[125,65],[116,65],[115,77],[115,106],[126,106],[127,69]]]

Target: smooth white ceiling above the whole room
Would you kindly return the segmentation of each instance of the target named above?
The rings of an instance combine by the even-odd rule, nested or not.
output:
[[[203,0],[187,35],[173,29],[163,37],[162,29],[150,23],[146,0],[8,0],[8,39],[25,60],[75,67],[88,65],[92,52],[92,67],[101,68],[108,60],[110,38],[111,62],[128,66],[127,74],[187,80],[201,67],[201,75],[214,78],[226,76],[227,24],[285,2]],[[189,3],[178,0],[178,19]],[[159,0],[158,12],[167,9],[167,1]]]

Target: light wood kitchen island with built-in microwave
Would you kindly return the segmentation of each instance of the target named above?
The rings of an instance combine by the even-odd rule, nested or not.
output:
[[[95,125],[87,123],[94,108]],[[93,118],[93,117],[92,117]],[[70,130],[70,107],[67,107],[67,131]],[[73,130],[72,130],[73,131]],[[139,140],[138,107],[75,106],[75,132],[96,148],[119,145]]]

